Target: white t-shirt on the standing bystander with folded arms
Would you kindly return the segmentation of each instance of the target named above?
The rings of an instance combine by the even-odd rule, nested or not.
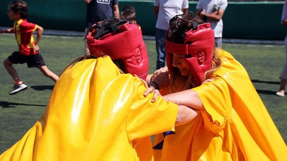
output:
[[[225,11],[227,8],[227,0],[199,0],[196,5],[196,10],[202,10],[204,13],[213,13],[221,9]],[[215,37],[222,37],[223,21],[220,19],[218,22],[212,21],[211,28],[214,31]]]

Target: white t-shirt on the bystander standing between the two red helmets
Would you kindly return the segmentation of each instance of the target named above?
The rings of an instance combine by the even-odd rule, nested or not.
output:
[[[188,0],[155,0],[154,6],[159,7],[155,28],[161,30],[168,30],[170,19],[189,8]]]

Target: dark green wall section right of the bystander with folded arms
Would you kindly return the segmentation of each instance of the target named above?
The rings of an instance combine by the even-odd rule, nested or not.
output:
[[[223,38],[284,39],[283,2],[229,3],[223,15]]]

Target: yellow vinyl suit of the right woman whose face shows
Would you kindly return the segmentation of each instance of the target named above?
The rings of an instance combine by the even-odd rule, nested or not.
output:
[[[193,88],[205,108],[155,135],[154,160],[286,160],[286,144],[244,67],[228,52],[219,55],[215,81]]]

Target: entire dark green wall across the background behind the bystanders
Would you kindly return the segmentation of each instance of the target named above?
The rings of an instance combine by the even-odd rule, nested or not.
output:
[[[0,1],[0,26],[12,27],[7,16],[10,1]],[[86,4],[83,0],[26,0],[29,6],[28,21],[50,30],[83,31]],[[136,9],[137,23],[144,35],[155,35],[156,18],[154,1],[121,1],[119,10],[131,5]],[[195,12],[197,2],[190,2],[189,10]],[[229,2],[223,15],[223,38],[282,40],[286,28],[280,24],[283,2]]]

